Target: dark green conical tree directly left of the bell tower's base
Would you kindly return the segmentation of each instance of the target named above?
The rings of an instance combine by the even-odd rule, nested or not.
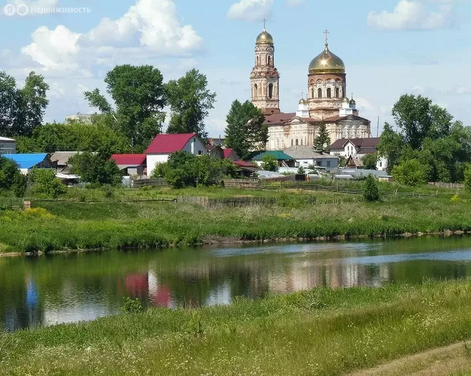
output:
[[[226,146],[243,160],[248,158],[249,150],[264,149],[268,140],[264,121],[265,116],[251,102],[234,100],[226,118]]]

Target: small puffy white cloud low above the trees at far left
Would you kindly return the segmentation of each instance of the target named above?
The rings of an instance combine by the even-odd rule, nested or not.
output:
[[[74,33],[63,25],[54,30],[41,26],[32,33],[33,42],[21,51],[46,70],[78,68],[75,59],[80,51],[77,45],[79,37],[79,33]]]

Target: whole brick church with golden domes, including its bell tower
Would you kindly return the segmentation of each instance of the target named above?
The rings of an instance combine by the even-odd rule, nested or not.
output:
[[[342,59],[330,52],[325,31],[324,50],[309,64],[307,98],[293,113],[279,105],[280,75],[274,63],[273,37],[266,28],[255,42],[255,67],[250,74],[251,101],[265,115],[267,150],[295,145],[315,145],[325,124],[331,143],[339,139],[371,137],[371,121],[359,116],[353,98],[347,98],[347,73]]]

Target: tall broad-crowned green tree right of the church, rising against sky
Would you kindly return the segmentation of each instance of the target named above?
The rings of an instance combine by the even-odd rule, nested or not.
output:
[[[428,98],[402,95],[393,107],[393,118],[401,129],[404,141],[420,149],[426,137],[439,139],[450,133],[453,117]]]

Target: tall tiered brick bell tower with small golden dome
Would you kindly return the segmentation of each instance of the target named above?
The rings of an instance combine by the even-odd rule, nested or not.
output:
[[[278,70],[274,66],[273,37],[265,28],[255,42],[255,67],[250,74],[251,99],[264,115],[280,112]]]

